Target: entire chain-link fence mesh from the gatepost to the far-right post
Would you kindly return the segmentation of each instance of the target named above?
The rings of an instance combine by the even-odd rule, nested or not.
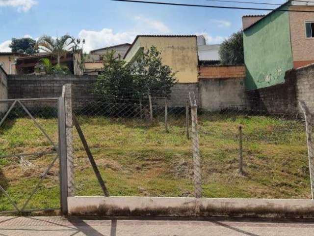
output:
[[[178,106],[129,95],[78,101],[74,94],[74,114],[111,196],[311,198],[303,116],[209,112],[191,100]],[[102,195],[74,136],[75,195]]]

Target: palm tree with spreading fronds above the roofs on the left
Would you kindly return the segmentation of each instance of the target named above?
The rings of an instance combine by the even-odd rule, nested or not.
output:
[[[68,39],[71,39],[67,43]],[[52,56],[57,58],[57,64],[60,65],[60,58],[65,57],[67,54],[66,48],[73,43],[73,38],[70,35],[63,35],[60,38],[52,38],[49,35],[43,35],[38,38],[37,43],[35,44],[36,49],[41,49],[45,52],[51,53]]]

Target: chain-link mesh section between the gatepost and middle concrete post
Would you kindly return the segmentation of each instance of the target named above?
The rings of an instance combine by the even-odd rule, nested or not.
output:
[[[79,94],[80,89],[86,87],[76,87],[74,93]],[[164,97],[128,99],[128,94],[123,98],[92,99],[83,105],[74,102],[74,114],[110,196],[194,195],[185,104],[173,107]],[[169,107],[165,109],[165,105]],[[101,195],[86,153],[74,133],[75,194]]]

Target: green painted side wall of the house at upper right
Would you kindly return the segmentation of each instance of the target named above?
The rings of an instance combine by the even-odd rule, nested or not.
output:
[[[245,30],[243,45],[247,90],[285,82],[285,72],[293,68],[288,12],[274,11]]]

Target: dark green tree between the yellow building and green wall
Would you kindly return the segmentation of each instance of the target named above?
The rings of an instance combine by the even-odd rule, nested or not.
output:
[[[230,38],[222,42],[219,49],[222,64],[235,65],[244,63],[242,31],[233,33]]]

